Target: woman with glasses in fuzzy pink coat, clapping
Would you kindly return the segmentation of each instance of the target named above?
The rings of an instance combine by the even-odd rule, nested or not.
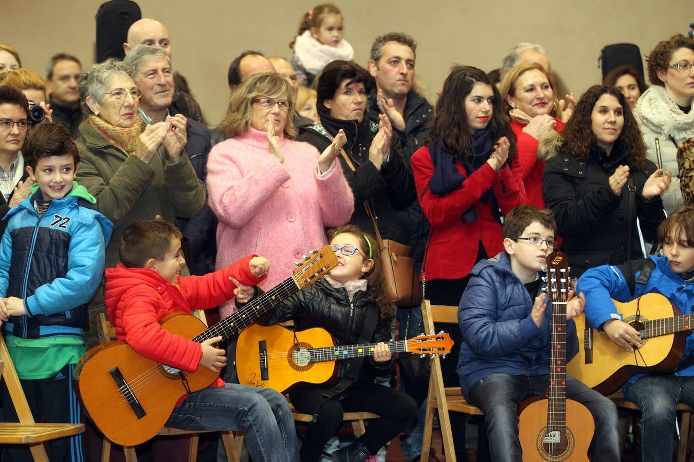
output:
[[[335,161],[339,133],[321,154],[296,134],[289,82],[276,73],[248,78],[232,94],[221,122],[230,139],[208,161],[210,206],[217,218],[217,268],[248,254],[263,255],[271,271],[260,287],[289,278],[312,249],[326,244],[325,226],[349,220],[353,197]],[[226,316],[231,306],[222,307]]]

